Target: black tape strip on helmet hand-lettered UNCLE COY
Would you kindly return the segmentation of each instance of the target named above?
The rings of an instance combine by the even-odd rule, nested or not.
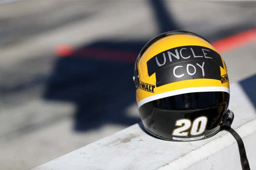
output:
[[[220,55],[198,45],[168,49],[147,61],[148,76],[156,73],[156,87],[188,79],[221,81],[219,66],[224,68]]]

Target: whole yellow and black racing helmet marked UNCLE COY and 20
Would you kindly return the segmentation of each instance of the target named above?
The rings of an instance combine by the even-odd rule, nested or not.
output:
[[[225,62],[210,42],[192,32],[170,31],[146,43],[133,81],[144,128],[158,138],[209,138],[229,114]]]

